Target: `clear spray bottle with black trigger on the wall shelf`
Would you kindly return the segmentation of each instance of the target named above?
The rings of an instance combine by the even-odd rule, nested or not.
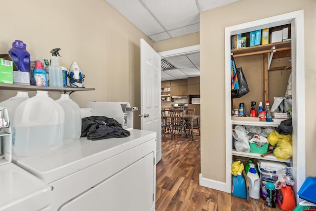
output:
[[[62,69],[59,66],[58,56],[60,48],[54,48],[51,52],[51,62],[48,68],[49,72],[49,86],[52,87],[63,87],[63,73]]]

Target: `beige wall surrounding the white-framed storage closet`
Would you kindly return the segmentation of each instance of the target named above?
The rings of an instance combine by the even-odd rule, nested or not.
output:
[[[224,29],[253,20],[304,9],[306,174],[316,175],[316,1],[240,0],[200,14],[201,173],[225,182]],[[213,90],[213,91],[210,91]],[[211,107],[209,106],[211,105]],[[212,109],[210,112],[209,109]],[[298,140],[299,141],[299,140]]]

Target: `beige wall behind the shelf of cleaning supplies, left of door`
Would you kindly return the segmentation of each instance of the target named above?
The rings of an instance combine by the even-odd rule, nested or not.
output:
[[[152,46],[154,42],[105,0],[9,0],[1,8],[0,53],[7,53],[14,40],[27,44],[31,60],[50,59],[50,50],[59,47],[60,65],[69,68],[76,60],[85,75],[84,86],[96,89],[71,94],[81,108],[87,101],[140,107],[140,39]],[[0,90],[0,101],[15,94]],[[140,128],[139,118],[134,125]]]

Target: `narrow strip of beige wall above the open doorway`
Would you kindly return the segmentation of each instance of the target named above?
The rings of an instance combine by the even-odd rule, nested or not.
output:
[[[188,47],[199,44],[199,33],[184,35],[168,40],[158,41],[154,43],[154,49],[157,52],[173,50],[181,47]]]

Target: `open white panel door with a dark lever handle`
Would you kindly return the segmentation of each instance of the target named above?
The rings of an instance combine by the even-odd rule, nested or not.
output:
[[[161,159],[161,61],[159,54],[140,40],[141,129],[157,132],[156,164]]]

